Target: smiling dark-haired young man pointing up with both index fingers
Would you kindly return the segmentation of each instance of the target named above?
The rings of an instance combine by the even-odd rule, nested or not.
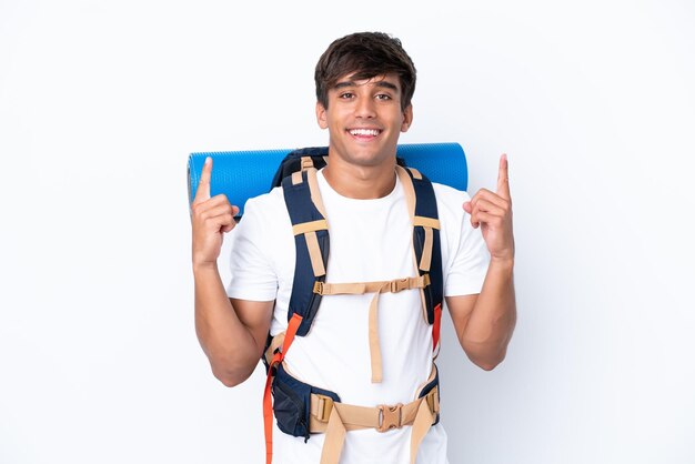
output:
[[[330,224],[326,282],[415,281],[407,189],[395,159],[399,135],[413,121],[413,62],[397,39],[355,33],[329,47],[315,81],[316,120],[329,130],[330,161],[315,175]],[[255,369],[269,331],[275,336],[289,330],[295,242],[282,188],[249,200],[234,229],[236,208],[223,195],[210,198],[211,170],[208,160],[192,206],[195,327],[214,375],[233,386]],[[500,160],[495,192],[483,189],[469,198],[445,185],[433,188],[446,306],[469,359],[492,370],[505,356],[516,320],[506,158]],[[222,236],[232,229],[232,279],[225,289],[216,261]],[[312,404],[311,435],[275,428],[276,464],[447,462],[446,434],[433,425],[439,401],[419,399],[436,373],[422,292],[379,292],[324,295],[311,331],[286,350],[284,375],[336,393],[341,406],[325,400],[330,417],[319,417],[324,403]],[[291,403],[278,406],[278,393],[276,408],[291,408]],[[342,404],[377,423],[352,430],[345,417],[354,411]],[[383,430],[386,425],[393,430]]]

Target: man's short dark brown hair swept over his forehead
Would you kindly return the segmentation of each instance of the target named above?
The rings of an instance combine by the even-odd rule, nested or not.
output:
[[[349,73],[354,80],[396,73],[401,81],[401,110],[411,104],[416,70],[399,39],[383,32],[356,32],[334,40],[314,72],[316,100],[323,108],[329,108],[329,90]]]

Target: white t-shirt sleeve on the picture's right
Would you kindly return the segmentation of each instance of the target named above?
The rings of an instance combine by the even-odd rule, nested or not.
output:
[[[480,228],[474,229],[471,225],[471,216],[463,211],[463,203],[471,198],[465,192],[456,193],[457,199],[450,203],[452,206],[450,226],[456,229],[447,231],[452,254],[444,270],[444,296],[480,293],[490,263],[490,253]]]

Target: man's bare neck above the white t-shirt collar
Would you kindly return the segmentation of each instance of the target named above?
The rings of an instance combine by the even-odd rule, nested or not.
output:
[[[386,196],[395,188],[395,158],[380,165],[345,163],[340,157],[329,159],[323,176],[339,194],[355,200]]]

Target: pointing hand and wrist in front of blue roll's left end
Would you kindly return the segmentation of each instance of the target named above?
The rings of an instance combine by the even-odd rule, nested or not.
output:
[[[224,233],[234,229],[234,216],[239,214],[239,208],[232,206],[224,194],[210,198],[211,176],[212,158],[208,157],[191,205],[193,266],[216,265]]]

